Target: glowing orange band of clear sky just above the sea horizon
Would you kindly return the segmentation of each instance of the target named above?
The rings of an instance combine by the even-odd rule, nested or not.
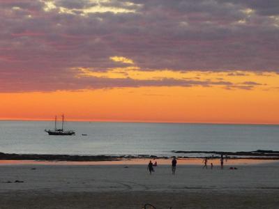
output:
[[[146,72],[144,72],[146,73]],[[151,72],[154,73],[154,72]],[[201,79],[223,77],[231,82],[252,80],[262,86],[246,90],[225,86],[110,88],[50,93],[1,93],[1,119],[50,120],[65,114],[78,121],[156,121],[189,123],[279,124],[278,75],[229,77],[207,72]],[[194,76],[189,72],[187,76]],[[162,72],[160,72],[162,75]],[[96,76],[96,75],[94,75]],[[114,75],[107,75],[108,77]],[[141,75],[137,75],[137,79]],[[154,75],[149,75],[153,77]],[[165,73],[176,77],[177,72]],[[144,79],[148,76],[144,76]]]

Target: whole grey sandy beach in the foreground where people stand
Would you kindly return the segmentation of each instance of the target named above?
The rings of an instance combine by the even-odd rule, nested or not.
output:
[[[146,164],[148,160],[145,160]],[[167,161],[166,161],[167,162]],[[170,162],[170,161],[169,161]],[[0,166],[0,208],[278,208],[279,163],[227,162],[221,170],[158,163]],[[237,167],[237,169],[229,169]]]

